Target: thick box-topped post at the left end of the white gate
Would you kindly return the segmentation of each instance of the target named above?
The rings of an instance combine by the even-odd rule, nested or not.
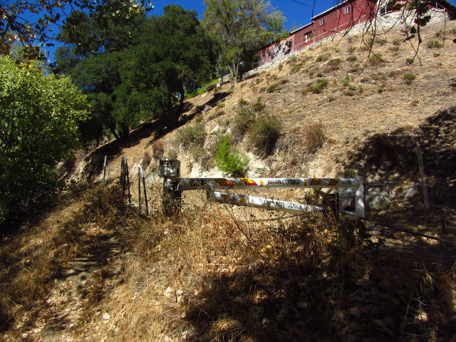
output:
[[[163,214],[172,216],[180,210],[182,192],[177,191],[180,176],[180,160],[160,159],[158,175],[163,177]]]

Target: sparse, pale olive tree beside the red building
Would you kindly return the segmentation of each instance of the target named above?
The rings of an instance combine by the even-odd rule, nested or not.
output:
[[[270,1],[204,0],[204,27],[222,41],[219,63],[239,78],[242,63],[257,62],[257,50],[280,33],[285,18]]]

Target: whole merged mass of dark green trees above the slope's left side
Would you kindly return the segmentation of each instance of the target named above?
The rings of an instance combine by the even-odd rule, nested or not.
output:
[[[165,6],[163,16],[138,12],[122,29],[105,29],[112,24],[75,12],[61,30],[67,46],[58,48],[56,72],[71,75],[88,95],[92,113],[81,125],[84,136],[96,138],[105,128],[128,137],[140,122],[160,117],[177,125],[185,93],[214,76],[216,42],[195,11],[177,5]]]

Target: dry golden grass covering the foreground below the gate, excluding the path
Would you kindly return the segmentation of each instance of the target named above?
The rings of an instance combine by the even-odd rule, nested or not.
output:
[[[451,337],[454,268],[383,253],[383,239],[371,237],[361,222],[244,222],[254,209],[202,197],[189,193],[181,214],[169,219],[160,212],[136,216],[114,188],[91,190],[61,209],[66,220],[57,211],[4,244],[2,255],[10,256],[16,272],[9,271],[10,285],[2,281],[1,305],[22,304],[10,309],[11,323],[21,322],[16,335],[48,319],[36,309],[61,281],[59,269],[115,233],[123,252],[111,255],[86,283],[86,314],[71,330],[78,341],[94,341],[98,333],[118,342]],[[160,186],[153,187],[151,207],[160,201]],[[32,257],[33,265],[21,270]],[[123,264],[119,273],[110,271],[116,259]],[[26,311],[28,323],[20,318]]]

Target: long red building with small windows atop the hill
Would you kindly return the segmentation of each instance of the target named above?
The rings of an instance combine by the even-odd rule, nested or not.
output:
[[[402,2],[402,1],[399,1]],[[433,6],[433,5],[432,5]],[[455,16],[455,7],[445,0],[436,0],[435,7],[447,9],[450,16]],[[345,0],[312,18],[312,22],[290,33],[287,38],[271,43],[258,51],[259,64],[268,63],[301,50],[311,43],[333,36],[354,25],[373,19],[377,10],[387,14],[388,7],[377,9],[377,0]]]

